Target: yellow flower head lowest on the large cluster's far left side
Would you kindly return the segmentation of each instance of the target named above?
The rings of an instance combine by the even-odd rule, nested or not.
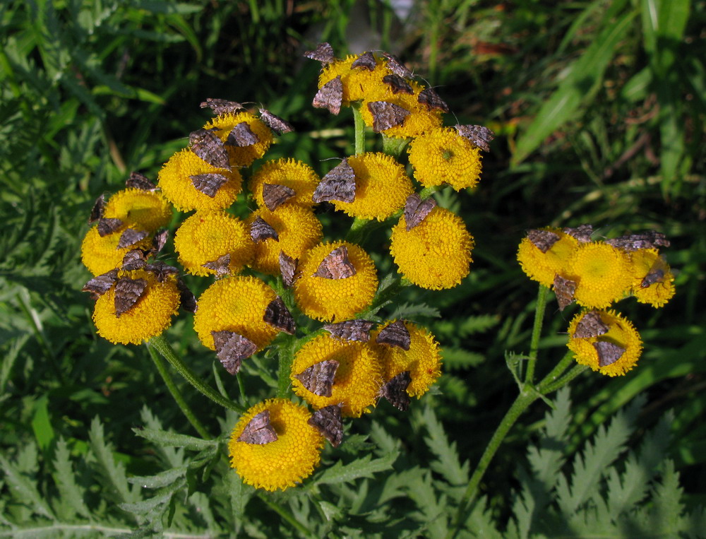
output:
[[[140,344],[172,325],[172,316],[179,309],[177,276],[169,274],[160,283],[151,271],[118,271],[118,278],[123,277],[147,282],[136,304],[118,316],[113,285],[96,300],[93,322],[98,335],[111,343]]]

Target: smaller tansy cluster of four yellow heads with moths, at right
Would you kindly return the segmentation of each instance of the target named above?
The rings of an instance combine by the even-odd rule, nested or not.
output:
[[[674,275],[658,250],[669,241],[654,231],[597,242],[592,234],[591,225],[530,230],[517,260],[554,289],[559,309],[574,301],[582,307],[569,324],[568,348],[581,365],[614,377],[635,366],[642,341],[630,321],[606,309],[629,296],[655,308],[671,299]]]

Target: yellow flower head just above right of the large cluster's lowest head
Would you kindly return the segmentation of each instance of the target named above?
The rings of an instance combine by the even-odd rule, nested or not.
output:
[[[330,360],[338,362],[331,396],[317,395],[306,389],[297,375],[312,365]],[[325,333],[309,340],[294,355],[292,389],[317,410],[342,403],[341,415],[360,417],[375,405],[382,384],[380,360],[369,343],[332,338]]]

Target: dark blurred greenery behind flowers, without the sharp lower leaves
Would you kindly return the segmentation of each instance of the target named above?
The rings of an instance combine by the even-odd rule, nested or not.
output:
[[[301,54],[325,40],[341,56],[397,54],[437,87],[457,122],[496,132],[479,187],[438,195],[475,237],[471,275],[454,290],[400,298],[441,313],[419,316],[445,350],[429,398],[460,454],[477,461],[517,393],[503,355],[529,348],[537,287],[515,261],[525,230],[592,223],[597,238],[659,230],[671,239],[664,255],[676,297],[663,309],[618,304],[645,351],[626,377],[587,373],[573,384],[575,442],[646,391],[640,421],[675,410],[672,456],[688,502],[706,502],[706,2],[5,1],[0,20],[0,452],[8,458],[33,441],[37,473],[48,473],[56,439],[80,454],[99,416],[128,471],[145,473],[150,450],[130,430],[140,408],[152,406],[165,428],[186,428],[144,347],[95,335],[92,302],[80,292],[90,277],[79,260],[90,207],[132,170],[156,179],[210,117],[199,108],[206,97],[262,104],[294,124],[265,158],[290,156],[322,172],[330,167],[322,160],[352,153],[349,111],[311,107],[319,64]],[[385,241],[381,230],[366,247],[380,253]],[[385,257],[376,262],[381,274],[394,271]],[[205,286],[191,284],[197,293]],[[551,309],[540,374],[563,355],[573,316]],[[210,377],[212,354],[189,316],[167,335]],[[184,391],[220,432],[220,410]],[[252,391],[268,395],[256,381]],[[544,410],[536,403],[522,418],[486,476],[498,514],[508,511],[514,463]],[[374,416],[404,437],[404,417],[389,408]],[[424,461],[419,442],[405,444]]]

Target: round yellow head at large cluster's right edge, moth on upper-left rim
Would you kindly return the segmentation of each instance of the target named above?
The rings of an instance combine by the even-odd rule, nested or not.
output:
[[[468,275],[473,237],[463,220],[434,208],[419,225],[407,230],[405,216],[393,227],[390,253],[405,278],[421,288],[453,288]]]

